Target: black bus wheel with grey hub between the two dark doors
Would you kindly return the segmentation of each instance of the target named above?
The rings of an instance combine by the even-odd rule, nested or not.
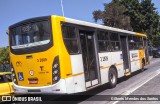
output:
[[[116,69],[111,67],[109,69],[109,74],[108,74],[108,80],[109,80],[109,87],[114,88],[117,85],[117,72]]]

